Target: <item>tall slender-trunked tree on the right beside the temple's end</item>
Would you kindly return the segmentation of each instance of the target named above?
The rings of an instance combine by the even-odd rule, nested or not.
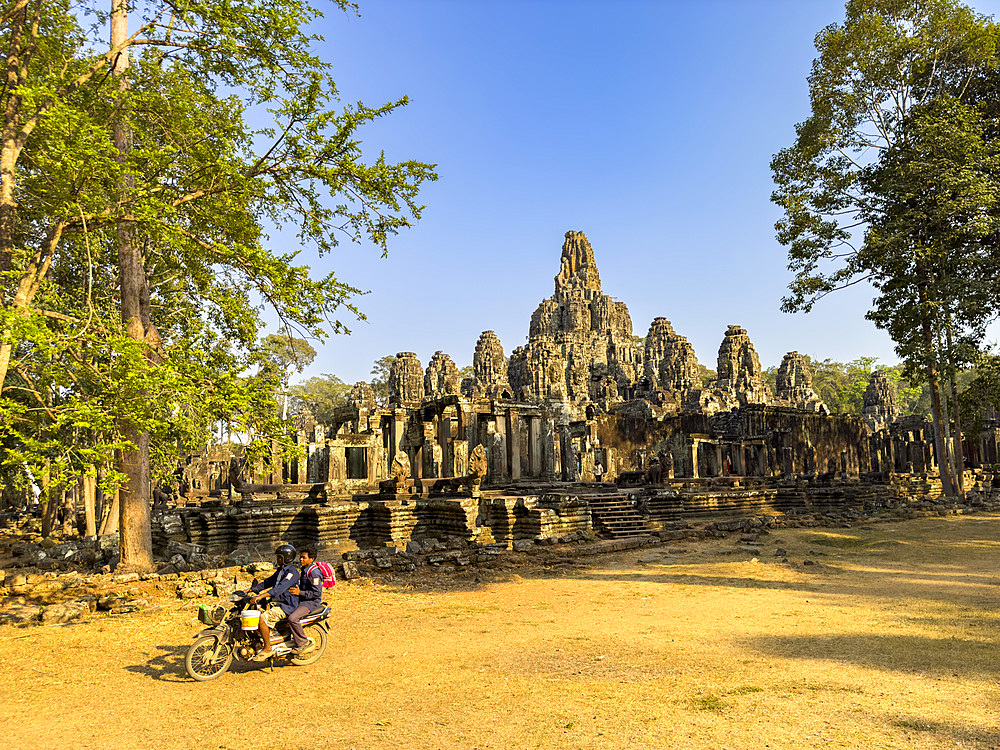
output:
[[[954,282],[943,281],[954,273],[949,263],[973,248],[946,227],[969,225],[969,214],[961,199],[940,200],[931,209],[935,197],[926,184],[924,215],[910,210],[908,191],[916,182],[905,164],[918,153],[907,150],[919,129],[916,113],[923,113],[922,127],[931,127],[931,119],[960,127],[956,108],[966,104],[970,84],[995,68],[996,38],[987,18],[954,0],[849,0],[844,22],[816,37],[812,114],[796,127],[795,143],[771,162],[777,183],[772,200],[785,213],[776,225],[778,239],[788,246],[796,275],[783,308],[808,311],[826,294],[861,281],[876,287],[869,317],[889,330],[897,352],[928,382],[948,494],[955,488],[940,372],[949,352],[940,334],[950,314],[952,325],[964,325],[963,335],[974,338],[989,314],[980,295],[994,292],[984,286],[970,298],[953,296]],[[951,102],[951,109],[939,102]],[[937,167],[961,172],[950,160],[956,153],[945,152],[938,152]],[[926,149],[920,153],[926,156]],[[990,204],[979,202],[977,210],[989,214]],[[981,255],[989,254],[987,247],[979,246]],[[965,299],[970,304],[959,311]]]

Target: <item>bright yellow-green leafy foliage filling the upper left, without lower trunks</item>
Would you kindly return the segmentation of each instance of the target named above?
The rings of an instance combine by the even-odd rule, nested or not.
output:
[[[363,156],[360,129],[406,100],[338,100],[313,52],[320,12],[310,3],[136,6],[125,88],[108,75],[120,50],[101,41],[108,5],[27,0],[0,11],[0,45],[19,71],[0,91],[13,165],[3,195],[16,195],[0,201],[9,486],[44,465],[107,464],[128,447],[122,425],[151,433],[162,474],[218,422],[251,452],[283,439],[275,393],[315,351],[268,337],[275,367],[260,367],[262,304],[286,331],[347,331],[341,316],[360,316],[357,290],[310,263],[345,238],[384,255],[419,218],[422,183],[436,179],[429,164]],[[130,151],[115,143],[115,122],[128,125]],[[120,322],[122,225],[142,250],[159,342],[136,343]],[[294,231],[298,247],[275,248],[275,229]]]

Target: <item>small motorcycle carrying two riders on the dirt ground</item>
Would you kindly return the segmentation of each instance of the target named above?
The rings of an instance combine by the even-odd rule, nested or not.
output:
[[[198,609],[198,620],[204,625],[210,625],[194,636],[194,643],[184,657],[184,669],[188,676],[199,682],[214,680],[225,674],[232,666],[233,660],[252,661],[257,652],[263,648],[260,632],[244,630],[242,625],[243,610],[248,609],[250,596],[245,591],[236,591],[229,597],[232,606],[229,610],[219,605],[211,608],[201,605]],[[330,607],[322,604],[306,617],[302,618],[305,634],[316,648],[307,654],[297,656],[292,652],[295,640],[292,637],[288,620],[281,620],[271,629],[271,649],[274,657],[269,659],[274,667],[274,659],[288,658],[292,664],[304,667],[319,661],[326,651],[329,639],[330,625],[327,618]]]

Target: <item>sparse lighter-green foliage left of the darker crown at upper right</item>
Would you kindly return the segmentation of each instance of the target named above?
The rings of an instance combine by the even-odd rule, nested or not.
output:
[[[879,280],[878,258],[858,246],[879,189],[868,167],[905,140],[914,107],[966,91],[995,66],[995,28],[953,0],[849,0],[845,16],[816,37],[812,114],[771,162],[772,200],[785,213],[777,236],[795,273],[788,311]]]

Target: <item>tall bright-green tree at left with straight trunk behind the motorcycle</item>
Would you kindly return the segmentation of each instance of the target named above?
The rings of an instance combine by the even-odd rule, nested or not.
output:
[[[93,278],[103,270],[96,256],[108,259],[116,248],[121,322],[102,318],[93,343],[103,353],[88,361],[104,376],[95,383],[105,395],[117,389],[127,398],[115,404],[95,392],[92,403],[116,416],[116,426],[102,425],[104,444],[138,454],[123,462],[120,478],[148,505],[141,436],[170,420],[157,411],[161,387],[183,381],[193,390],[209,377],[223,392],[233,382],[230,372],[201,368],[189,334],[204,340],[207,326],[215,332],[211,356],[226,357],[226,346],[255,344],[258,300],[315,336],[345,330],[337,316],[357,312],[351,286],[332,274],[316,278],[298,251],[272,251],[267,230],[293,226],[301,245],[320,255],[338,235],[384,254],[389,238],[419,216],[417,191],[435,175],[421,162],[363,159],[358,128],[405,99],[339,108],[329,68],[312,52],[306,29],[319,13],[308,3],[152,2],[133,8],[124,30],[125,6],[113,6],[117,14],[102,6],[12,0],[0,11],[8,52],[0,91],[0,408],[24,414],[5,389],[27,387],[24,376],[33,375],[24,364],[46,345],[46,329],[61,326],[69,339],[96,319],[89,308],[53,318],[38,307],[58,276],[54,266],[79,262]],[[109,22],[111,46],[95,52]],[[123,86],[110,73],[126,55]],[[273,123],[250,128],[246,115],[265,109]],[[148,522],[138,526],[148,537]],[[122,552],[124,566],[148,567],[141,552]]]

